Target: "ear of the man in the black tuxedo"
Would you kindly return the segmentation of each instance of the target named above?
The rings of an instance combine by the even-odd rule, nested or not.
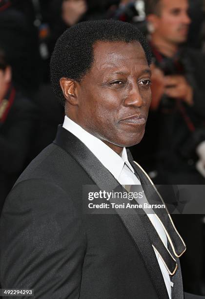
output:
[[[71,79],[67,79],[64,77],[62,77],[59,82],[66,101],[70,105],[78,105],[77,83]]]

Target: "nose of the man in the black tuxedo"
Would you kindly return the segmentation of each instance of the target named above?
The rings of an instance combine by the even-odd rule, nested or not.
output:
[[[134,106],[134,107],[142,107],[145,106],[146,102],[143,100],[142,94],[140,93],[139,86],[137,84],[133,84],[129,89],[127,96],[124,100],[124,106]]]

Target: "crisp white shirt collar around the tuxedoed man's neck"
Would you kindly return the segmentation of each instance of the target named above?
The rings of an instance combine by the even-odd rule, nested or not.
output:
[[[108,171],[110,171],[117,180],[119,179],[119,176],[123,170],[124,163],[126,163],[129,169],[134,173],[134,170],[128,161],[125,148],[123,148],[121,156],[118,155],[104,142],[88,133],[66,115],[62,127],[71,132],[78,139],[80,139],[82,143],[84,143],[84,145],[92,151],[92,153],[98,158],[98,160],[100,160],[102,165]]]

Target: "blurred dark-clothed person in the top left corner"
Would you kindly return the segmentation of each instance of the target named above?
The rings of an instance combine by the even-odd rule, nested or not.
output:
[[[33,97],[41,82],[39,38],[32,3],[22,2],[24,9],[17,0],[0,1],[0,41],[8,45],[6,55],[15,84]]]

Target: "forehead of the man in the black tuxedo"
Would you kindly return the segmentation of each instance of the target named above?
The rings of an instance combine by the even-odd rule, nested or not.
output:
[[[94,62],[92,71],[105,71],[121,67],[148,66],[142,45],[133,41],[97,42],[94,44]]]

